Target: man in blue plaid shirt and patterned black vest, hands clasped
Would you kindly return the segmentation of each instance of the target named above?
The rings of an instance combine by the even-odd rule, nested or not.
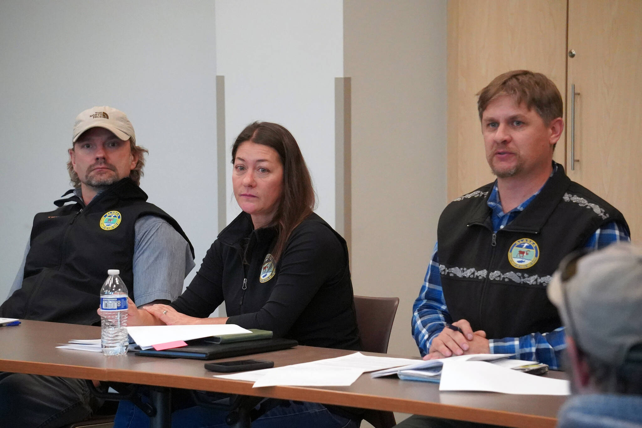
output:
[[[546,286],[578,248],[629,240],[609,203],[571,182],[553,162],[564,130],[559,90],[530,71],[501,74],[478,94],[494,183],[449,203],[438,244],[413,305],[412,330],[424,359],[516,354],[560,367],[566,347]],[[411,416],[402,427],[478,426]]]

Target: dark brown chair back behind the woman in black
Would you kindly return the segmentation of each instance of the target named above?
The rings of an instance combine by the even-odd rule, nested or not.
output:
[[[361,345],[366,352],[388,352],[390,330],[399,306],[398,297],[354,296]]]

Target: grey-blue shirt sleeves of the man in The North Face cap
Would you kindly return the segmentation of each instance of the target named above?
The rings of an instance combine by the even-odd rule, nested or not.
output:
[[[134,233],[134,284],[125,286],[134,286],[134,301],[139,307],[159,299],[172,302],[182,293],[183,280],[195,266],[189,244],[167,221],[156,216],[137,219]],[[29,250],[27,242],[9,296],[22,287]]]

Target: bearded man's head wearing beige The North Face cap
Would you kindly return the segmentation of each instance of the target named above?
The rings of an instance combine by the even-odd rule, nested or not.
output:
[[[108,106],[88,108],[76,116],[72,142],[67,171],[83,194],[127,176],[140,185],[148,151],[136,146],[134,126],[125,113]]]

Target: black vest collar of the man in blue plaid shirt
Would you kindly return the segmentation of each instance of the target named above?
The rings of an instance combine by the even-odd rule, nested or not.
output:
[[[555,173],[546,180],[541,192],[535,196],[535,199],[532,200],[528,206],[502,230],[535,234],[539,233],[542,230],[542,227],[544,227],[544,223],[546,223],[556,207],[556,205],[551,205],[548,201],[561,201],[569,184],[571,184],[571,180],[566,176],[564,167],[557,164]],[[492,210],[490,210],[490,207],[487,205],[492,185],[493,184],[489,184],[485,186],[488,187],[489,194],[483,198],[483,203],[480,203],[478,207],[471,212],[471,216],[467,221],[468,225],[483,225],[484,227],[489,228],[489,230],[492,230],[492,221],[490,220]]]

